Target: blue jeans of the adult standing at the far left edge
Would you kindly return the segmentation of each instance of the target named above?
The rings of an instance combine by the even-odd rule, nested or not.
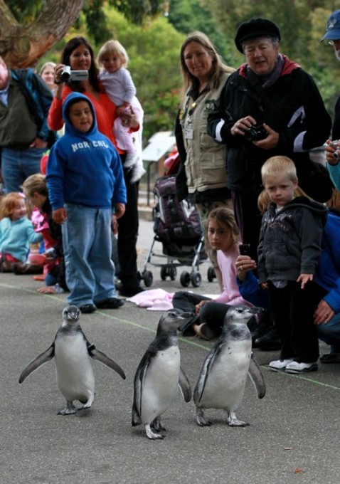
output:
[[[47,148],[1,148],[1,173],[7,193],[21,191],[30,175],[40,173],[41,157]]]

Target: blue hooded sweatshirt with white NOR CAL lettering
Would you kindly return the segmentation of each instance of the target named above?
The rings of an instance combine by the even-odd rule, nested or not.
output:
[[[85,100],[92,110],[93,124],[81,132],[70,123],[68,105]],[[126,204],[122,162],[112,142],[98,131],[92,102],[81,93],[71,93],[63,104],[65,135],[51,148],[46,179],[53,211],[65,203],[107,209]]]

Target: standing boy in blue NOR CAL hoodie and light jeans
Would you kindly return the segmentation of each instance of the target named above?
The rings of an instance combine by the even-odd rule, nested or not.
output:
[[[115,309],[111,261],[112,209],[116,219],[127,202],[122,163],[97,129],[88,98],[71,93],[63,105],[65,135],[49,154],[46,179],[53,220],[62,224],[68,302],[82,312]]]

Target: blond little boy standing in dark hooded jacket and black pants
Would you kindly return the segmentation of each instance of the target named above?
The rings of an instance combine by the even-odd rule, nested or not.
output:
[[[261,174],[271,203],[262,218],[257,274],[262,288],[270,292],[282,340],[280,359],[269,366],[274,371],[312,372],[317,370],[319,358],[313,278],[327,210],[307,196],[294,198],[298,180],[291,159],[272,157],[263,164]]]

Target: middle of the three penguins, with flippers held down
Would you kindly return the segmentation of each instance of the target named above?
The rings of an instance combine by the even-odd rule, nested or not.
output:
[[[191,400],[191,387],[181,368],[176,330],[186,317],[192,315],[179,310],[163,313],[156,337],[142,357],[134,376],[132,426],[143,423],[148,438],[164,438],[160,433],[166,430],[161,424],[161,414],[175,399],[178,387],[184,400]]]

